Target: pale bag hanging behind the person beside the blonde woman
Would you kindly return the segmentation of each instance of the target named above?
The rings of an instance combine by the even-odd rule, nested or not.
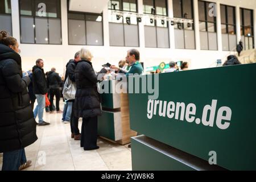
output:
[[[75,100],[76,98],[76,84],[67,77],[65,84],[63,86],[63,98],[64,100]]]

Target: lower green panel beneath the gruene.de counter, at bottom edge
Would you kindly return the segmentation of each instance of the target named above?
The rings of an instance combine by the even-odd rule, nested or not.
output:
[[[131,138],[133,171],[192,171],[179,161]]]

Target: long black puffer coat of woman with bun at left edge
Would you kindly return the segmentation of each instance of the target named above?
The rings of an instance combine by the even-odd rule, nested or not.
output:
[[[0,44],[0,152],[19,150],[38,139],[28,84],[18,53]]]

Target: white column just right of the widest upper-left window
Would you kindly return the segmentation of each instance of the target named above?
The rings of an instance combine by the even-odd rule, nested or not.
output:
[[[62,44],[68,46],[68,5],[65,0],[61,0],[61,34]]]

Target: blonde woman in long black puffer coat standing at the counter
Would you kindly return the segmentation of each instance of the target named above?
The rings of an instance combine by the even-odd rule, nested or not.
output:
[[[95,150],[97,146],[97,116],[101,115],[100,97],[97,90],[97,75],[93,70],[92,54],[85,48],[80,51],[81,61],[76,65],[76,98],[74,114],[82,117],[81,147]],[[106,73],[102,70],[100,73]],[[100,79],[101,80],[101,79]]]

